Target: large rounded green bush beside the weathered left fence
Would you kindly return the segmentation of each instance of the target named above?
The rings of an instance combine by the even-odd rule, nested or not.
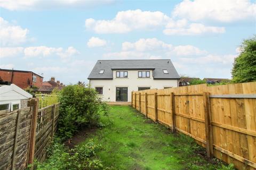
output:
[[[107,106],[94,89],[79,85],[63,88],[59,95],[60,117],[58,134],[70,138],[77,130],[97,125],[100,113],[107,114]]]

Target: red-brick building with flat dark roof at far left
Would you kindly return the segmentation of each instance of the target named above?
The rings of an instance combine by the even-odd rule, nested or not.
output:
[[[15,84],[21,89],[32,86],[39,88],[43,83],[43,77],[31,71],[0,69],[0,77],[3,81]]]

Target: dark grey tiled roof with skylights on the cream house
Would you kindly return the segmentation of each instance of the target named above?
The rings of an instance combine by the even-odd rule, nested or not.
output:
[[[179,79],[171,60],[98,60],[88,79],[113,79],[113,70],[153,70],[154,79]],[[105,70],[99,74],[100,70]],[[169,74],[164,74],[167,70]]]

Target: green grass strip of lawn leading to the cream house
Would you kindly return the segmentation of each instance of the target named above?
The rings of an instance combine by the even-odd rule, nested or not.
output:
[[[109,119],[111,124],[109,124]],[[97,157],[111,169],[217,169],[199,154],[204,149],[185,135],[172,134],[129,106],[112,106],[103,128],[90,134],[102,146]]]

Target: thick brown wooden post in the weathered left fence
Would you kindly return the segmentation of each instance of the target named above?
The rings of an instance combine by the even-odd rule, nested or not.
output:
[[[36,141],[36,123],[37,123],[37,114],[38,114],[38,99],[33,98],[29,101],[28,106],[33,107],[32,112],[32,120],[30,125],[30,138],[29,138],[29,157],[28,157],[28,164],[34,163],[34,156],[35,156],[35,141]],[[33,166],[31,166],[33,169]]]

